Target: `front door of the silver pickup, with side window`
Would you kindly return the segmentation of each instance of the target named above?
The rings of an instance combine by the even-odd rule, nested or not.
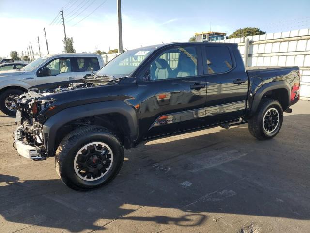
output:
[[[49,75],[41,75],[40,70],[47,68]],[[37,86],[42,88],[54,88],[62,85],[68,85],[76,80],[76,72],[72,67],[72,58],[61,57],[55,58],[43,65],[37,71]]]

